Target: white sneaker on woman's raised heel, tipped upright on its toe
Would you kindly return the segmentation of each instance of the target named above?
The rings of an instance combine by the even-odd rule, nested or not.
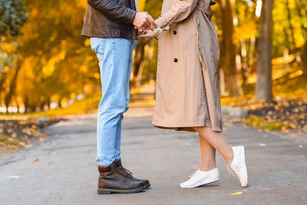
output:
[[[245,164],[245,148],[243,146],[232,147],[233,160],[229,163],[227,169],[239,178],[241,186],[247,187],[247,169]]]

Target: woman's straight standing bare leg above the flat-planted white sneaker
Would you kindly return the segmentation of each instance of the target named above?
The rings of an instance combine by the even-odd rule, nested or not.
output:
[[[202,171],[210,171],[216,168],[215,163],[215,149],[212,147],[204,137],[200,135],[202,162],[200,169]]]

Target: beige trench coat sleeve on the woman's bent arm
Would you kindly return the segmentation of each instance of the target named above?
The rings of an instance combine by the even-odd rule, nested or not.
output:
[[[186,19],[196,8],[198,0],[176,0],[171,9],[161,15],[156,24],[163,30],[168,30],[173,24],[177,24]]]

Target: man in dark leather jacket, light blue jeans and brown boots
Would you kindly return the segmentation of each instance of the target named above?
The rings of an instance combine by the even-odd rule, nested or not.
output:
[[[128,110],[132,53],[139,29],[157,28],[152,17],[138,12],[137,0],[87,0],[82,36],[91,38],[99,60],[102,98],[98,107],[98,194],[136,193],[150,186],[123,168],[121,121]]]

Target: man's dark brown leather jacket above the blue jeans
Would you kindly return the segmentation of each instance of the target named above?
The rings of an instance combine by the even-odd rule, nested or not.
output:
[[[137,39],[135,0],[87,0],[82,36]]]

